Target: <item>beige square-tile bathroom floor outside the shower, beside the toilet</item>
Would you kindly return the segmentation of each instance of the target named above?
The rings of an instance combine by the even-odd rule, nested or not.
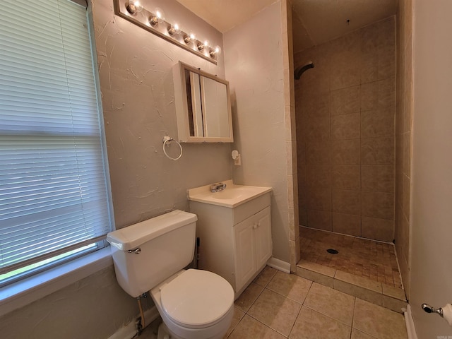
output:
[[[156,338],[146,328],[140,338]],[[266,267],[235,302],[227,339],[406,339],[397,312]]]

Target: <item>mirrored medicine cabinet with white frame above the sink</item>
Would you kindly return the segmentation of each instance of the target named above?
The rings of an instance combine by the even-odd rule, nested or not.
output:
[[[173,80],[179,141],[232,143],[229,83],[181,61]]]

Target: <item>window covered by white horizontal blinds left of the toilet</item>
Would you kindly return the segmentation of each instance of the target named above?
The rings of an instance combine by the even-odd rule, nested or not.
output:
[[[111,230],[89,28],[69,0],[0,11],[0,286],[99,249]]]

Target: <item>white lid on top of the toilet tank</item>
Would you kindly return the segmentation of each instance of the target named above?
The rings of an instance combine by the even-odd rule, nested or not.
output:
[[[121,228],[107,234],[107,242],[121,251],[136,249],[138,246],[169,231],[196,222],[196,214],[173,210],[128,227]]]

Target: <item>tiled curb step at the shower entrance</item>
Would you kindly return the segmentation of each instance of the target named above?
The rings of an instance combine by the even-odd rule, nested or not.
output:
[[[335,268],[321,266],[318,263],[299,261],[296,274],[299,277],[331,287],[372,304],[386,307],[400,314],[403,314],[403,309],[406,309],[408,305],[405,292],[400,288],[381,284]]]

